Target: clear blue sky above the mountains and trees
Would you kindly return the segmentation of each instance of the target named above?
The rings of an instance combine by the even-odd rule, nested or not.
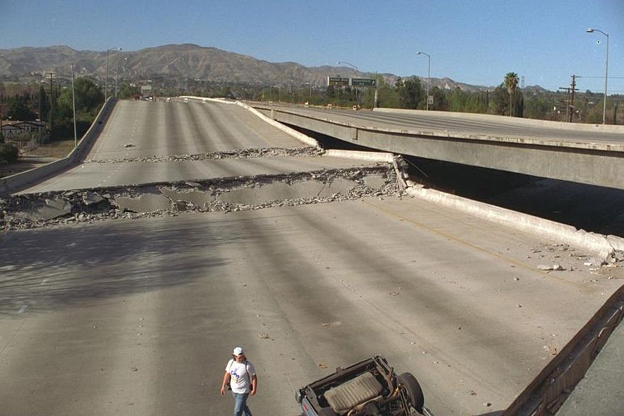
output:
[[[624,0],[0,0],[0,49],[194,43],[271,62],[427,76],[423,51],[432,77],[489,86],[513,71],[550,90],[572,73],[604,77],[605,37],[589,27],[609,33],[608,89],[624,93]],[[604,78],[580,78],[578,88],[602,91]]]

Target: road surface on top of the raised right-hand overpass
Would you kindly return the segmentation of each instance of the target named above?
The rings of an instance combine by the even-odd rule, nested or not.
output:
[[[424,135],[447,133],[450,136],[470,135],[490,138],[529,138],[537,143],[555,141],[570,147],[587,147],[589,143],[609,144],[624,150],[622,126],[593,126],[498,117],[486,114],[425,112],[425,111],[348,111],[319,108],[277,107],[285,111],[333,120],[353,126],[399,129]],[[613,149],[615,150],[615,149]]]

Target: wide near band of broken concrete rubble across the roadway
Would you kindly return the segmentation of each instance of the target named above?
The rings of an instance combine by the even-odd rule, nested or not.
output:
[[[53,191],[1,198],[0,228],[22,230],[184,212],[229,213],[399,193],[396,171],[388,163],[316,172]]]

